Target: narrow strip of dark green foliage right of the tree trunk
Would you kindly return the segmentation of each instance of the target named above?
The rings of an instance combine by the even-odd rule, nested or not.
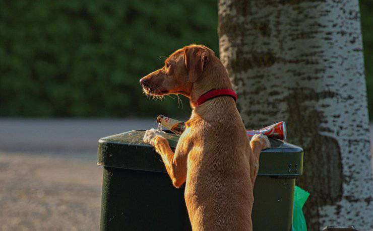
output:
[[[361,30],[364,46],[366,88],[368,91],[369,119],[373,120],[373,2],[360,0]]]

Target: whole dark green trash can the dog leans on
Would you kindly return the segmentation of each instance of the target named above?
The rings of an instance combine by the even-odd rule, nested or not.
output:
[[[176,189],[144,131],[98,141],[103,166],[100,230],[191,230],[184,188]],[[172,149],[178,137],[164,135]],[[253,229],[291,230],[295,178],[302,174],[303,150],[270,139],[263,150],[254,187]]]

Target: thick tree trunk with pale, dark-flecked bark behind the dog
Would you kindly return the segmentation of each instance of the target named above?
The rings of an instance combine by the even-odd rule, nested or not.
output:
[[[373,228],[357,0],[220,0],[220,58],[247,128],[285,120],[304,149],[309,230]]]

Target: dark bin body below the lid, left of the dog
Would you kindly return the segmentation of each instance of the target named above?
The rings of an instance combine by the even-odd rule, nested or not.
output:
[[[168,178],[104,167],[101,230],[191,230],[183,189]]]

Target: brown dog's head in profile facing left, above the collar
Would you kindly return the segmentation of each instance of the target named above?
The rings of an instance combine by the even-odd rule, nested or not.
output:
[[[172,53],[164,66],[140,80],[146,94],[162,96],[182,94],[189,97],[214,52],[206,46],[185,46]]]

